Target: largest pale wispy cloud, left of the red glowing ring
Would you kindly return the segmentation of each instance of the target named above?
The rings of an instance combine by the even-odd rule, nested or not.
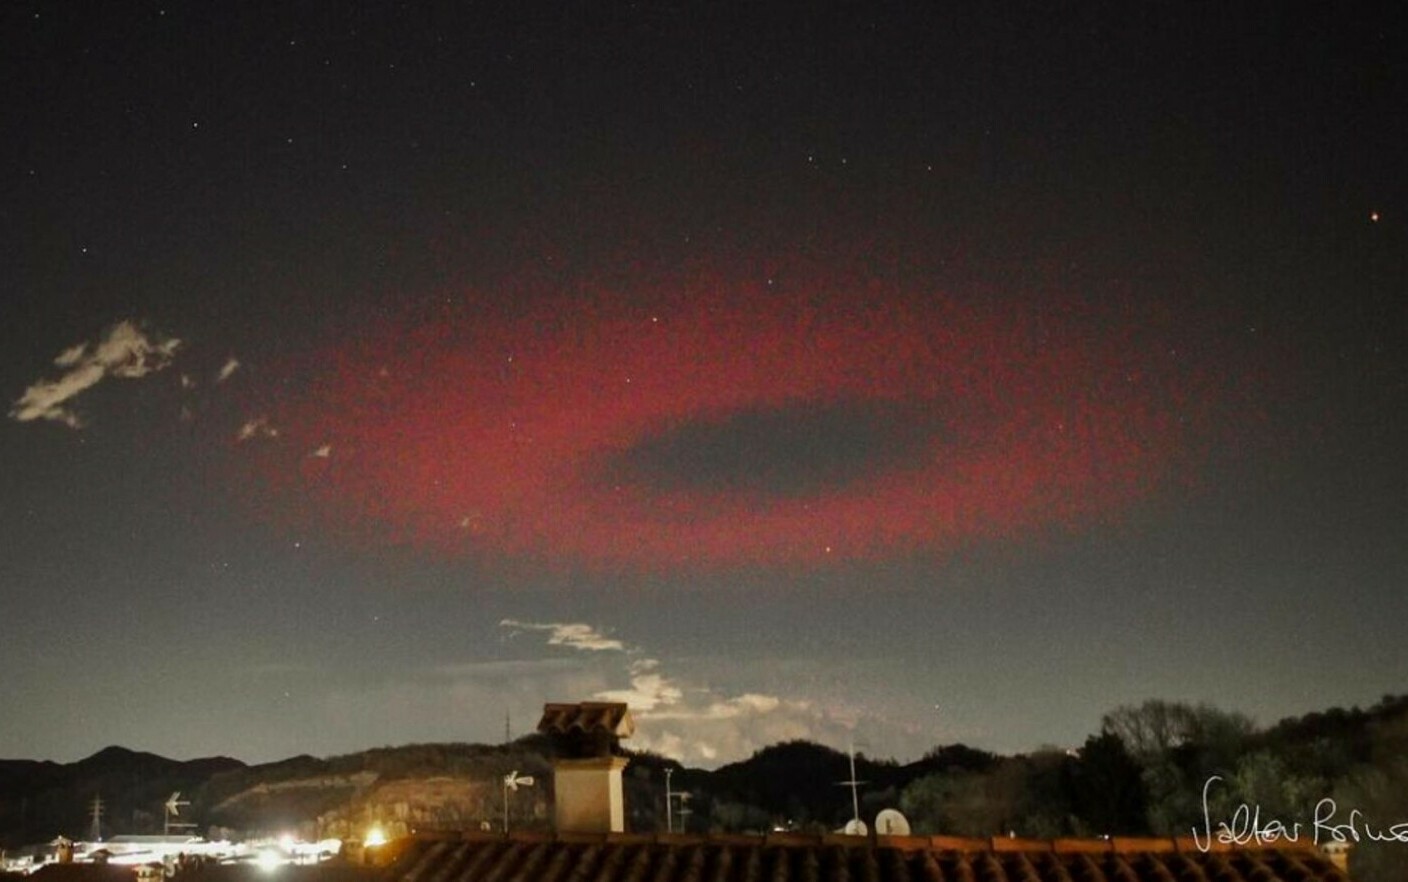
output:
[[[182,341],[175,337],[148,335],[135,321],[120,321],[96,342],[80,342],[54,359],[63,373],[41,379],[24,390],[10,409],[10,417],[28,423],[52,420],[82,428],[83,418],[69,403],[108,376],[139,379],[169,366]]]

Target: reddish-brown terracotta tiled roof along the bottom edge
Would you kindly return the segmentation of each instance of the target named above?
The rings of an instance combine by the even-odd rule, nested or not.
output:
[[[411,843],[380,882],[1347,882],[1314,850],[955,837],[959,847],[948,848],[939,837],[894,838],[466,834]]]

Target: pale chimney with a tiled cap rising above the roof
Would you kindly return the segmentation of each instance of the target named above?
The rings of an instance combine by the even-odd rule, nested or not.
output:
[[[553,823],[560,833],[625,833],[621,738],[635,731],[621,702],[543,704],[538,731],[552,738],[556,758]]]

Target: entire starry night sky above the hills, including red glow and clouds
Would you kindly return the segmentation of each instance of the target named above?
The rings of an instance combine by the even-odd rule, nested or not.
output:
[[[1388,6],[753,6],[6,4],[0,755],[1402,690]]]

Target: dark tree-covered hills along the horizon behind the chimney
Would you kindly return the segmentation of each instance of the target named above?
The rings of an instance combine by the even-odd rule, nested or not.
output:
[[[1152,710],[1181,710],[1200,724],[1245,720],[1207,707],[1149,702],[1121,709],[1122,720]],[[1110,728],[1080,751],[1045,750],[1001,757],[962,744],[942,745],[912,762],[855,757],[862,819],[903,807],[917,831],[991,836],[1167,834],[1187,828],[1188,800],[1208,774],[1294,790],[1295,800],[1336,788],[1362,790],[1408,747],[1408,696],[1290,717],[1264,730],[1194,728],[1163,752],[1126,750]],[[1228,731],[1232,734],[1229,735]],[[628,826],[665,830],[665,778],[689,793],[677,799],[676,824],[691,830],[835,830],[853,812],[850,758],[811,741],[786,741],[714,771],[629,754],[625,772]],[[0,847],[90,838],[92,805],[101,799],[101,836],[161,833],[163,803],[176,790],[189,806],[191,833],[246,837],[298,833],[306,838],[359,837],[380,823],[389,834],[466,830],[503,823],[500,781],[510,771],[536,778],[511,800],[514,827],[548,828],[552,745],[539,735],[510,744],[410,744],[318,758],[307,754],[248,765],[230,757],[176,761],[125,747],[106,747],[70,764],[0,759]],[[1377,765],[1376,765],[1377,764]],[[1159,789],[1160,782],[1176,785]],[[1260,782],[1260,783],[1257,783]],[[1274,788],[1273,788],[1274,790]],[[1356,793],[1356,790],[1347,790]],[[1367,792],[1367,790],[1364,790]],[[1312,800],[1314,802],[1314,800]],[[679,814],[687,809],[689,814]],[[1286,810],[1302,809],[1298,803]],[[1397,814],[1394,814],[1397,817]],[[676,828],[680,828],[676,826]]]

